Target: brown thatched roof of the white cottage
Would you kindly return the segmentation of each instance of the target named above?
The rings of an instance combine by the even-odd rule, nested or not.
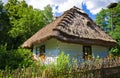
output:
[[[87,45],[113,46],[116,44],[115,40],[77,7],[71,8],[62,16],[43,27],[25,41],[22,47],[31,48],[33,45],[43,43],[51,38]]]

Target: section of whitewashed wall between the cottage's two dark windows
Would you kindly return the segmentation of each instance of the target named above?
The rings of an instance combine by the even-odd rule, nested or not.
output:
[[[82,56],[82,45],[64,43],[56,39],[51,39],[46,43],[46,55],[47,56],[57,56],[61,52],[69,54],[70,57],[80,57]]]

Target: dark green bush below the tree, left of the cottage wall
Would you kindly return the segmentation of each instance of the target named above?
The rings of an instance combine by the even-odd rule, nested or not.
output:
[[[6,50],[6,46],[0,46],[0,69],[28,67],[33,64],[32,52],[27,49]]]

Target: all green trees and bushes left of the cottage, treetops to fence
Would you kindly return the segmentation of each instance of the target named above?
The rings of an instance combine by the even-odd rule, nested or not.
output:
[[[18,47],[50,23],[52,17],[49,5],[39,10],[25,0],[8,0],[5,5],[0,1],[0,69],[30,66],[32,53]]]

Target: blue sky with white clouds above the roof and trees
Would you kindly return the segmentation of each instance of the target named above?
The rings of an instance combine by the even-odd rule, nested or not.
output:
[[[4,3],[7,1],[8,0],[2,0]],[[32,5],[34,8],[41,10],[43,10],[45,6],[50,5],[54,16],[60,16],[66,10],[76,6],[95,20],[96,14],[99,13],[102,8],[105,9],[110,3],[118,2],[118,0],[26,0],[26,2],[28,5]]]

